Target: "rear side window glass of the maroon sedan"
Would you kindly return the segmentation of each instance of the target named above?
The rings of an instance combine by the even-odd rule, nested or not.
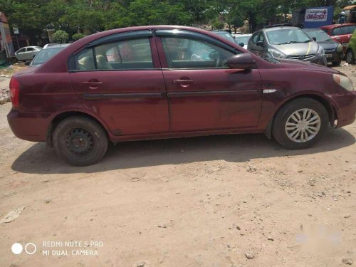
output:
[[[95,60],[94,60],[95,58]],[[149,38],[105,43],[88,48],[75,56],[77,70],[152,69]]]

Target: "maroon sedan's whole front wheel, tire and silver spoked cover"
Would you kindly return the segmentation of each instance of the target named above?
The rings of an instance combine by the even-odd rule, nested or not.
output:
[[[328,112],[311,98],[298,98],[278,111],[273,122],[273,136],[291,150],[312,147],[328,128]]]

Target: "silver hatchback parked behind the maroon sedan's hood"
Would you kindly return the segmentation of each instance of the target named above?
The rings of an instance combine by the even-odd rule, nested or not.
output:
[[[267,26],[256,31],[248,41],[248,50],[262,58],[286,58],[326,66],[324,48],[297,27]]]

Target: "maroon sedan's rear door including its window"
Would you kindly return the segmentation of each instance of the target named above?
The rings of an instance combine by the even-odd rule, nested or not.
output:
[[[84,107],[101,117],[113,135],[169,131],[167,94],[152,31],[92,41],[70,59],[70,80]]]

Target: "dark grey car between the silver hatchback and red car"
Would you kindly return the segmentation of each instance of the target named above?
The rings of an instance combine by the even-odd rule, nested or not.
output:
[[[344,58],[344,51],[341,43],[334,41],[325,31],[320,28],[304,28],[303,31],[308,34],[319,46],[323,46],[326,61],[339,66]]]

